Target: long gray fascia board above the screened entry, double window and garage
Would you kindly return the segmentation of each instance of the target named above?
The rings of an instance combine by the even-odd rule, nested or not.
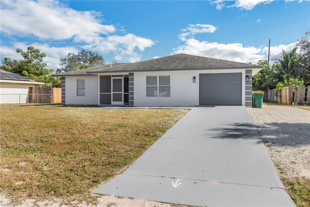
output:
[[[228,70],[228,69],[250,69],[250,68],[261,68],[262,66],[253,67],[214,67],[214,68],[191,68],[191,69],[156,69],[156,70],[123,70],[123,71],[87,71],[88,74],[94,73],[121,73],[121,72],[153,72],[153,71],[196,71],[196,70]]]

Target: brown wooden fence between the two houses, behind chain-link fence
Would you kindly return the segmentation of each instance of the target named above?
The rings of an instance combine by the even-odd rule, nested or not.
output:
[[[29,103],[61,103],[61,88],[53,88],[51,86],[29,87]]]

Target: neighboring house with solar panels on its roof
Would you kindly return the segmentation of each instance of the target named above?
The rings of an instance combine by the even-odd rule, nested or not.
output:
[[[29,87],[42,82],[34,81],[17,73],[0,70],[0,104],[27,103]]]

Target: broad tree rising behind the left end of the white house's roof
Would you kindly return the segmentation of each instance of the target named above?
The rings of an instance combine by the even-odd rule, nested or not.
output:
[[[56,73],[82,70],[89,67],[104,65],[104,58],[98,53],[82,50],[78,53],[68,53],[60,58],[60,68]]]

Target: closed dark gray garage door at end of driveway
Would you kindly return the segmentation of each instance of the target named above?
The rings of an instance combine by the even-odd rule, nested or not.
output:
[[[241,105],[242,73],[199,74],[200,105]]]

